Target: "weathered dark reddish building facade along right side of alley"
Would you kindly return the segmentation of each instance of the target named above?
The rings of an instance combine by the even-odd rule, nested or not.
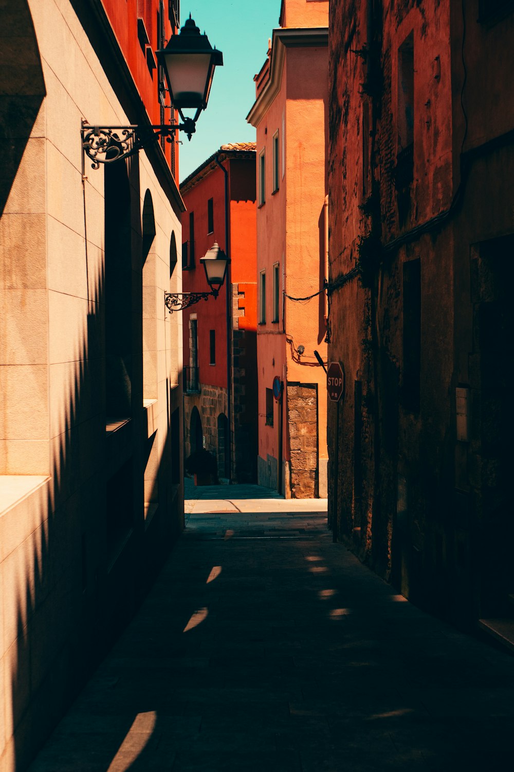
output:
[[[513,11],[334,0],[329,25],[329,516],[408,598],[483,627],[514,589]]]

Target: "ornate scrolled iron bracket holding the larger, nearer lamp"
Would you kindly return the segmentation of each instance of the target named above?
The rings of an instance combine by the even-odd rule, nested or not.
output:
[[[82,121],[82,148],[92,161],[92,168],[100,164],[112,164],[139,153],[143,147],[156,142],[160,137],[173,142],[173,132],[185,131],[189,139],[195,133],[197,117],[183,117],[183,124],[164,126],[92,126]]]

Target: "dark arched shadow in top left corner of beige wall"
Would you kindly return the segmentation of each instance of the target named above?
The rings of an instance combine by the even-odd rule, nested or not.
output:
[[[25,146],[35,127],[35,120],[46,93],[39,49],[26,0],[7,0],[2,3],[0,49],[8,52],[9,56],[8,63],[4,60],[0,64],[0,216],[2,216]]]

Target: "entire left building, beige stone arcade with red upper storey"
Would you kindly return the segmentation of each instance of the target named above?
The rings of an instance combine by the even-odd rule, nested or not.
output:
[[[183,527],[175,151],[96,169],[82,152],[84,120],[160,123],[138,32],[157,49],[178,3],[142,5],[0,6],[2,772],[27,767]]]

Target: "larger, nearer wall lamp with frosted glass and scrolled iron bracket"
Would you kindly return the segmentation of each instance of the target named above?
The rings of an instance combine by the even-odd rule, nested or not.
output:
[[[156,51],[156,57],[166,77],[171,105],[183,123],[92,126],[82,122],[82,147],[93,169],[139,153],[149,142],[170,137],[175,130],[185,131],[189,139],[194,134],[198,117],[207,107],[214,68],[223,65],[223,53],[210,45],[207,35],[200,35],[190,15],[180,34],[172,35],[167,46]],[[188,108],[196,110],[194,117],[183,115]]]

